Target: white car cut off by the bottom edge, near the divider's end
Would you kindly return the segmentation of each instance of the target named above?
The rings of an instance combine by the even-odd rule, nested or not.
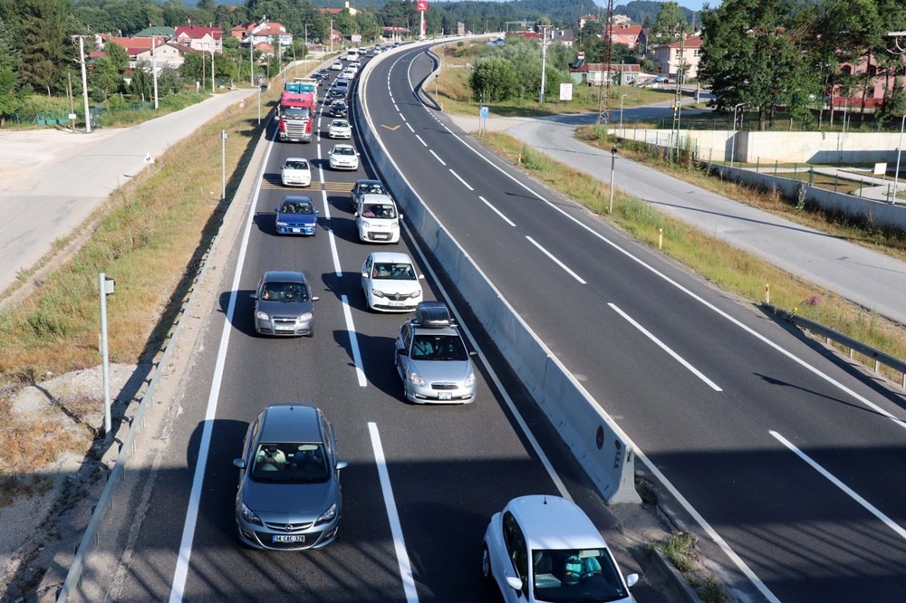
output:
[[[481,571],[505,601],[632,603],[638,574],[623,578],[607,542],[575,503],[520,496],[495,513],[485,532]]]

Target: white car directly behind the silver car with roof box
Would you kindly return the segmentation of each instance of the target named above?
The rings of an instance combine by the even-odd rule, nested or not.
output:
[[[361,291],[374,311],[410,312],[421,302],[421,280],[409,255],[393,252],[369,254],[361,264]]]

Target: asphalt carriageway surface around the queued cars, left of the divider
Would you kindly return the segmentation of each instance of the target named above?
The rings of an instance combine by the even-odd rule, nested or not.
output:
[[[318,121],[310,145],[274,142],[269,150],[254,211],[222,268],[219,303],[207,309],[210,326],[188,369],[149,512],[138,518],[115,572],[113,600],[493,600],[480,577],[481,538],[511,498],[564,493],[605,533],[612,528],[581,468],[495,360],[455,291],[449,294],[466,312],[469,345],[481,352],[477,402],[418,407],[402,400],[393,338],[408,315],[365,310],[361,263],[371,251],[405,251],[428,277],[426,298],[446,299],[451,283],[434,279],[408,236],[396,245],[358,242],[349,190],[373,175],[367,153],[355,172],[327,168],[333,143],[320,137],[329,122]],[[317,168],[309,189],[279,185],[280,165],[294,156]],[[318,234],[275,235],[275,206],[299,194],[312,196],[321,212]],[[299,270],[312,282],[320,297],[313,338],[255,336],[249,293],[273,269]],[[349,462],[339,539],[301,553],[245,550],[236,540],[232,461],[262,407],[296,400],[323,409]],[[614,553],[624,573],[639,571],[627,550]],[[633,592],[641,603],[668,600],[644,576]]]

